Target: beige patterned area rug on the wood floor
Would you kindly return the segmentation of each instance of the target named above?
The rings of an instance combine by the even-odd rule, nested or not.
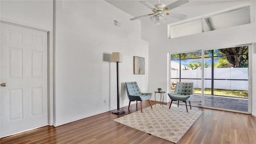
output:
[[[194,124],[202,111],[171,107],[160,104],[133,112],[114,121],[153,136],[177,143]]]

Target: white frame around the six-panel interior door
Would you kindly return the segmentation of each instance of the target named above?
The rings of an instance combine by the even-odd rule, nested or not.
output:
[[[47,30],[47,28],[41,28],[40,26],[31,26],[21,22],[11,22],[11,20],[0,20],[0,24],[11,24],[14,26],[20,26],[23,28],[29,28],[33,30],[39,30],[47,33],[47,73],[48,73],[48,124],[49,126],[54,125],[54,55],[53,55],[53,30]],[[1,127],[0,127],[1,129]]]

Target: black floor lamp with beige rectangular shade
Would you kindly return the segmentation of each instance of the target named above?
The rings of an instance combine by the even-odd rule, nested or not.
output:
[[[122,114],[125,111],[119,108],[119,62],[123,62],[123,56],[120,52],[112,53],[112,62],[116,62],[116,79],[117,79],[117,109],[113,110],[112,114]]]

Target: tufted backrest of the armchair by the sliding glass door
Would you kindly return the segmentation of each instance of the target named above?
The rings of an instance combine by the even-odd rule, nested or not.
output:
[[[193,82],[177,82],[174,93],[184,95],[194,94]]]

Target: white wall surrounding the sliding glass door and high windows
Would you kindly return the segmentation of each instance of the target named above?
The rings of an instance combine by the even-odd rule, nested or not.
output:
[[[189,18],[202,16],[211,12],[239,6],[248,3],[248,1],[241,2],[227,2],[221,4],[187,6],[177,8],[184,11]],[[253,20],[256,16],[255,1],[250,1],[251,16]],[[174,10],[175,12],[175,10]],[[178,21],[178,20],[176,20]],[[171,19],[160,26],[149,25],[149,20],[142,20],[142,39],[149,42],[149,90],[154,91],[158,87],[168,90],[168,53],[190,52],[195,50],[210,50],[216,48],[226,48],[228,46],[236,46],[240,44],[249,44],[256,42],[256,23],[255,20],[250,24],[225,28],[221,30],[214,30],[211,32],[204,32],[190,36],[183,36],[179,38],[167,39],[167,24],[176,22]],[[152,22],[151,22],[152,23]],[[150,33],[148,31],[150,30]],[[252,47],[252,86],[255,86],[255,62],[256,52],[255,46]],[[157,69],[156,69],[157,68]],[[167,99],[165,99],[167,102]],[[256,90],[252,90],[252,114],[256,115]]]

